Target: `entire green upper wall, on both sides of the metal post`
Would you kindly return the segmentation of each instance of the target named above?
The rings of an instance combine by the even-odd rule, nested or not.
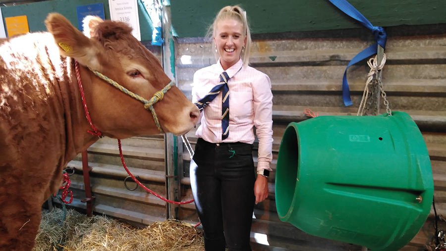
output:
[[[165,0],[166,1],[166,0]],[[49,12],[59,12],[77,27],[76,7],[104,4],[110,19],[108,0],[49,0],[1,7],[4,17],[27,15],[31,32],[44,31]],[[375,26],[446,23],[446,0],[349,0]],[[171,0],[175,35],[203,37],[216,13],[225,5],[241,4],[248,13],[253,34],[318,31],[362,27],[328,0]],[[153,25],[138,0],[141,40],[152,39]]]

